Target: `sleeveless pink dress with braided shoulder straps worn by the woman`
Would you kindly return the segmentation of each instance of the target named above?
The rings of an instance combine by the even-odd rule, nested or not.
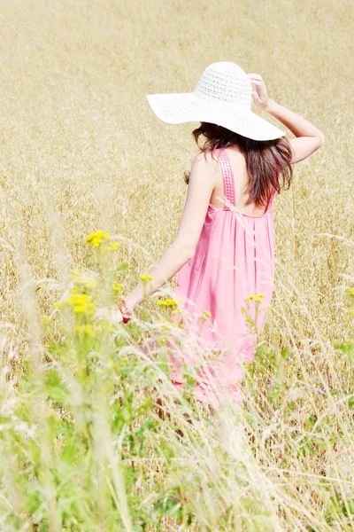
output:
[[[224,195],[235,206],[227,152],[219,148],[214,153],[222,169]],[[221,393],[236,405],[241,403],[243,363],[254,359],[273,294],[274,194],[275,189],[264,215],[245,215],[210,203],[196,252],[178,272],[175,298],[181,312],[173,315],[173,321],[187,334],[178,348],[170,340],[170,376],[175,386],[184,386],[182,363],[187,368],[198,364],[193,393],[200,401],[218,404]],[[246,299],[254,295],[258,298]],[[253,320],[253,328],[242,309]]]

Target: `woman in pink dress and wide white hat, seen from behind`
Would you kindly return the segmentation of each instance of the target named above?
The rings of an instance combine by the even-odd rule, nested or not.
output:
[[[279,176],[289,188],[292,165],[318,150],[324,136],[269,98],[259,74],[245,74],[232,62],[208,66],[193,92],[147,98],[162,121],[201,122],[193,131],[200,153],[186,176],[189,187],[176,238],[150,270],[152,281],[145,287],[139,283],[109,311],[114,320],[127,322],[144,290],[154,293],[178,272],[176,296],[184,314],[175,319],[196,333],[207,361],[197,373],[196,398],[213,404],[219,390],[239,405],[242,363],[254,358],[272,299],[273,198],[281,192]],[[252,113],[252,98],[295,138],[287,139]],[[196,364],[193,348],[186,343],[172,352],[171,364],[173,384],[182,386],[183,368]]]

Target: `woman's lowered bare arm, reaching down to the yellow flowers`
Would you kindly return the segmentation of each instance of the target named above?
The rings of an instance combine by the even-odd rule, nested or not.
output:
[[[142,303],[144,290],[146,296],[164,286],[195,253],[215,186],[216,173],[217,161],[210,154],[206,155],[205,160],[204,154],[198,153],[192,163],[186,203],[176,238],[148,272],[152,279],[145,286],[140,282],[124,296],[129,309],[133,310]]]

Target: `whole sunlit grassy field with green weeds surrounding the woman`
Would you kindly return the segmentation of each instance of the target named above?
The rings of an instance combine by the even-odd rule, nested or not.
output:
[[[347,0],[2,0],[2,532],[354,529],[353,22]],[[56,303],[124,295],[172,243],[197,124],[145,95],[219,60],[326,140],[274,201],[266,330],[242,409],[212,417],[163,338],[140,349],[168,337],[175,278],[127,326]]]

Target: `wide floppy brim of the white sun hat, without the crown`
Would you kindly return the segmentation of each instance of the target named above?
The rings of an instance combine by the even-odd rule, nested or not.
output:
[[[285,131],[248,109],[198,98],[194,92],[146,95],[153,112],[168,124],[205,121],[253,140],[273,140]]]

